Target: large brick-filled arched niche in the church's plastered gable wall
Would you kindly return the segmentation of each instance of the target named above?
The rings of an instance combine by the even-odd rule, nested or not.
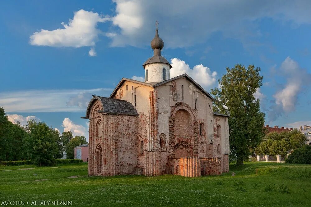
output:
[[[185,109],[179,109],[174,114],[174,134],[176,137],[188,138],[192,133],[192,117]]]

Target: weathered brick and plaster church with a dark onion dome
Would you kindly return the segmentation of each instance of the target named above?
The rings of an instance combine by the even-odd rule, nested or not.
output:
[[[213,112],[215,98],[189,75],[169,77],[158,29],[151,47],[145,82],[122,78],[110,97],[93,96],[81,117],[90,120],[88,174],[228,172],[228,116]]]

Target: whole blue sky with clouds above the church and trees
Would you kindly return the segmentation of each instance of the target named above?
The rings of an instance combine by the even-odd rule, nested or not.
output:
[[[158,20],[171,76],[187,72],[209,91],[226,67],[254,64],[265,123],[311,125],[310,10],[307,1],[2,1],[0,106],[12,121],[35,116],[88,137],[80,116],[91,95],[144,76]]]

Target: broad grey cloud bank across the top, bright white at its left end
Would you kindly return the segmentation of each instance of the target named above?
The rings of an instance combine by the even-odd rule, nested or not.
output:
[[[310,24],[308,1],[176,1],[114,0],[112,46],[147,45],[154,35],[155,20],[166,47],[188,47],[206,41],[214,32],[237,38],[246,47],[260,45],[258,20],[271,18],[291,25]],[[256,8],[256,9],[254,9]],[[207,12],[208,11],[208,12]],[[239,12],[236,12],[239,11]],[[255,22],[255,24],[253,24]]]

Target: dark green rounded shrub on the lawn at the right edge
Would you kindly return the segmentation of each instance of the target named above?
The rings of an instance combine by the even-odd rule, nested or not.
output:
[[[285,162],[292,164],[311,164],[311,146],[304,145],[301,148],[295,149],[288,155],[288,159]]]

